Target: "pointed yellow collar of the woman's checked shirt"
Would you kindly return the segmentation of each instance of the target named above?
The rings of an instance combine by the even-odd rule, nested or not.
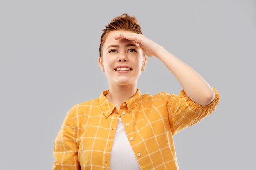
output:
[[[136,93],[128,100],[124,101],[123,103],[126,103],[128,113],[141,101],[142,94],[139,88],[136,88]],[[113,110],[116,108],[112,103],[108,101],[108,99],[105,97],[106,94],[108,94],[108,90],[102,91],[101,95],[99,96],[99,104],[101,106],[101,110],[103,111],[105,117],[108,117]],[[125,107],[126,107],[125,106]],[[122,107],[122,104],[121,104]],[[117,109],[117,108],[116,108]]]

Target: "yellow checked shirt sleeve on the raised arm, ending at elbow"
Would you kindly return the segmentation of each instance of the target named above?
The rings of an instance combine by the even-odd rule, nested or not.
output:
[[[189,99],[184,89],[180,91],[179,95],[160,92],[166,100],[168,119],[173,135],[213,113],[220,101],[220,94],[215,88],[211,88],[215,92],[215,98],[206,106],[196,104]]]

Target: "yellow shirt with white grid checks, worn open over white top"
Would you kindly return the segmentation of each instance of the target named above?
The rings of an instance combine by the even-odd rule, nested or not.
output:
[[[213,88],[213,87],[212,87]],[[207,106],[179,95],[137,92],[120,106],[128,141],[141,170],[179,170],[173,135],[213,113],[220,94]],[[74,105],[54,141],[53,170],[109,170],[110,151],[119,113],[102,91],[99,98]],[[122,112],[126,114],[122,114]],[[133,137],[133,140],[130,140]],[[140,154],[140,155],[137,155]]]

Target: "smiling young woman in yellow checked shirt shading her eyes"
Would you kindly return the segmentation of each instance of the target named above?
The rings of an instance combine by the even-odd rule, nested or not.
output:
[[[217,107],[220,94],[195,70],[142,35],[123,14],[103,29],[98,63],[109,89],[75,104],[54,141],[53,170],[178,170],[173,135]],[[147,57],[157,57],[183,87],[141,94]]]

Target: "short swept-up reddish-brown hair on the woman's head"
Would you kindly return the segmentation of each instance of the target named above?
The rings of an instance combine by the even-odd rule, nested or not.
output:
[[[108,33],[115,30],[132,31],[137,34],[142,34],[141,26],[135,16],[132,17],[127,13],[124,13],[121,16],[115,17],[108,25],[105,26],[105,29],[102,30],[103,34],[101,35],[101,42],[99,45],[99,57],[102,56],[101,52],[106,40],[105,37],[108,35]]]

